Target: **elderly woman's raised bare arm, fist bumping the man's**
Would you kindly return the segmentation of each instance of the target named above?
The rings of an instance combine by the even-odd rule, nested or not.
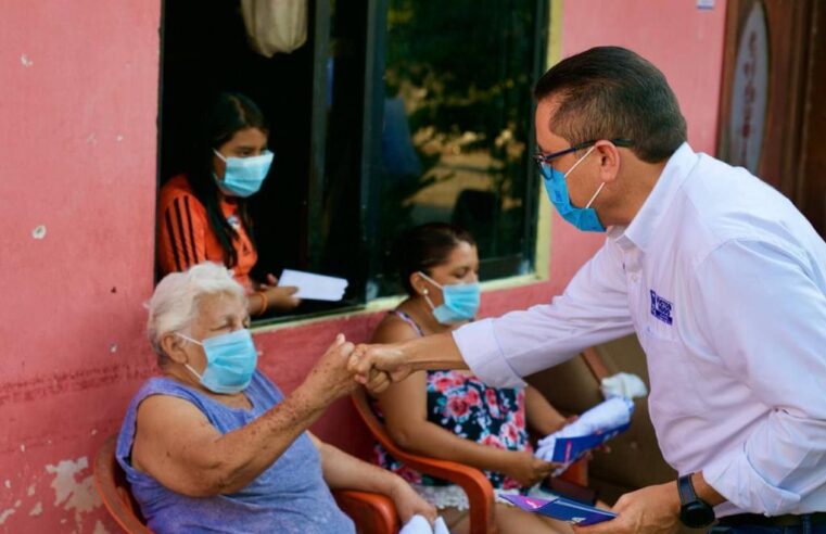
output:
[[[355,386],[346,370],[353,345],[339,336],[306,380],[246,427],[220,434],[191,403],[167,395],[138,409],[132,465],[190,496],[229,494],[272,465],[335,398]]]

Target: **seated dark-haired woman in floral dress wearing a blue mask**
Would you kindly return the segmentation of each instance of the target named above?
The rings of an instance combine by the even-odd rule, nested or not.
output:
[[[395,253],[408,297],[382,320],[372,343],[395,343],[457,328],[479,308],[479,257],[473,238],[447,224],[410,230]],[[410,374],[379,395],[376,406],[387,432],[403,448],[485,471],[501,492],[519,493],[558,465],[534,457],[525,422],[543,435],[566,419],[532,387],[488,387],[469,372]],[[456,485],[404,468],[380,445],[377,462],[407,479],[435,505],[452,532],[467,532],[468,500]],[[571,532],[561,522],[496,505],[500,533]]]

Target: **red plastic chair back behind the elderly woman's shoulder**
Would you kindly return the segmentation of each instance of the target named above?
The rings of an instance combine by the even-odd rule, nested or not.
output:
[[[117,436],[103,442],[94,458],[94,487],[115,522],[129,534],[152,534],[147,529],[138,504],[129,491],[129,483],[115,458]]]

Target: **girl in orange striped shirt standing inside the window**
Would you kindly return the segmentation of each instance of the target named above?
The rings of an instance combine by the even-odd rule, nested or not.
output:
[[[167,181],[158,201],[157,258],[161,274],[209,260],[232,269],[247,294],[247,310],[288,310],[298,305],[295,288],[250,278],[258,259],[246,199],[260,189],[272,163],[264,114],[239,93],[223,93],[206,114],[194,164]]]

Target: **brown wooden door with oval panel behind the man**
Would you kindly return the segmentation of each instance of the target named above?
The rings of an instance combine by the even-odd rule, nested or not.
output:
[[[826,236],[826,0],[729,0],[721,158],[777,188]]]

